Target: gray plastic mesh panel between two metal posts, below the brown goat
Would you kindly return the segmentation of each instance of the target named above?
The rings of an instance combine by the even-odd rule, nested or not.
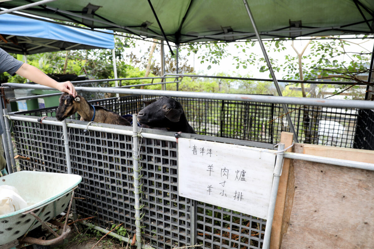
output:
[[[71,165],[83,177],[77,202],[79,213],[96,216],[102,227],[125,222],[135,230],[132,185],[132,137],[80,129],[70,131]]]

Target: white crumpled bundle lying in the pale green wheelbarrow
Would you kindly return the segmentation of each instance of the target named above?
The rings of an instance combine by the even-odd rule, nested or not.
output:
[[[27,202],[19,196],[15,187],[0,185],[0,215],[9,214],[27,206]]]

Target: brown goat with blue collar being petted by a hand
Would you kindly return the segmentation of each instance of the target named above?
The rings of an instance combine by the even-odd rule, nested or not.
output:
[[[56,118],[62,121],[68,116],[78,112],[81,121],[93,121],[96,123],[131,125],[130,122],[102,106],[93,106],[80,95],[75,98],[70,94],[63,93],[56,111]]]

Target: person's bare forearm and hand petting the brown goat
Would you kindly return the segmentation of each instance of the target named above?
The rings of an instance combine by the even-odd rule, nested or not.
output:
[[[71,94],[73,95],[73,97],[77,95],[77,92],[70,81],[57,82],[45,73],[43,73],[42,71],[40,71],[38,68],[31,66],[27,63],[23,63],[22,66],[15,73],[37,84],[52,87],[63,93]]]

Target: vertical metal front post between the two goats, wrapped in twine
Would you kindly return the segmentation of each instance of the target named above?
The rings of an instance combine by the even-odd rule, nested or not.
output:
[[[140,225],[140,170],[138,157],[138,122],[137,114],[132,114],[132,168],[134,170],[134,196],[135,196],[135,225],[136,225],[136,239],[137,249],[141,249],[141,225]]]

